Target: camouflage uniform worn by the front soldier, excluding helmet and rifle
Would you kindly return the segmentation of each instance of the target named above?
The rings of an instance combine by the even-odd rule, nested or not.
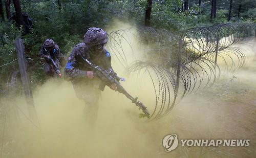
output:
[[[89,104],[96,104],[100,94],[98,89],[100,80],[87,77],[87,71],[92,71],[92,69],[82,58],[90,60],[105,70],[109,70],[112,69],[111,56],[105,49],[102,53],[93,55],[87,44],[79,43],[73,48],[68,58],[65,76],[72,81],[77,97]]]

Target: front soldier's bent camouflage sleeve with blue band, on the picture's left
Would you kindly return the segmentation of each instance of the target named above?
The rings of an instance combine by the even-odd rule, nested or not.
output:
[[[87,71],[79,70],[76,66],[77,64],[77,56],[78,56],[78,47],[74,47],[65,67],[65,76],[67,79],[75,79],[75,78],[84,78],[87,77]]]

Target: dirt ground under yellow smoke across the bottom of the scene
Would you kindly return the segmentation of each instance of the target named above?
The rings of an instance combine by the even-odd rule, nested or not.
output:
[[[187,95],[170,114],[145,122],[120,94],[102,94],[97,122],[88,126],[83,103],[69,83],[49,81],[34,94],[40,126],[28,118],[24,98],[2,99],[1,157],[255,157],[255,67],[223,76]],[[236,78],[232,78],[232,76]],[[63,86],[63,84],[65,86]],[[49,89],[55,89],[49,91]],[[68,89],[68,91],[67,91]],[[65,90],[65,91],[64,91]],[[56,91],[60,93],[56,94]],[[41,97],[47,94],[48,98]],[[112,95],[112,94],[111,94]],[[62,96],[65,96],[65,100]],[[116,102],[118,99],[118,103]],[[64,101],[63,101],[64,100]],[[123,104],[120,104],[123,101]],[[250,139],[249,147],[182,147],[165,152],[162,139]]]

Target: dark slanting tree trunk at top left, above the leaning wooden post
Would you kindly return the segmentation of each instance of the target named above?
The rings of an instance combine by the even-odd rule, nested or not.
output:
[[[13,0],[13,5],[14,5],[14,9],[15,9],[15,13],[16,13],[16,17],[17,17],[17,24],[19,25],[19,27],[23,27],[24,29],[24,34],[27,33],[27,29],[25,27],[25,21],[22,15],[22,7],[20,6],[19,0]]]

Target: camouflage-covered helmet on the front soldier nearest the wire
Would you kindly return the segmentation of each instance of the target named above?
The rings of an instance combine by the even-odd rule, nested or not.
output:
[[[100,28],[89,28],[83,36],[86,44],[99,45],[108,41],[108,33]]]

